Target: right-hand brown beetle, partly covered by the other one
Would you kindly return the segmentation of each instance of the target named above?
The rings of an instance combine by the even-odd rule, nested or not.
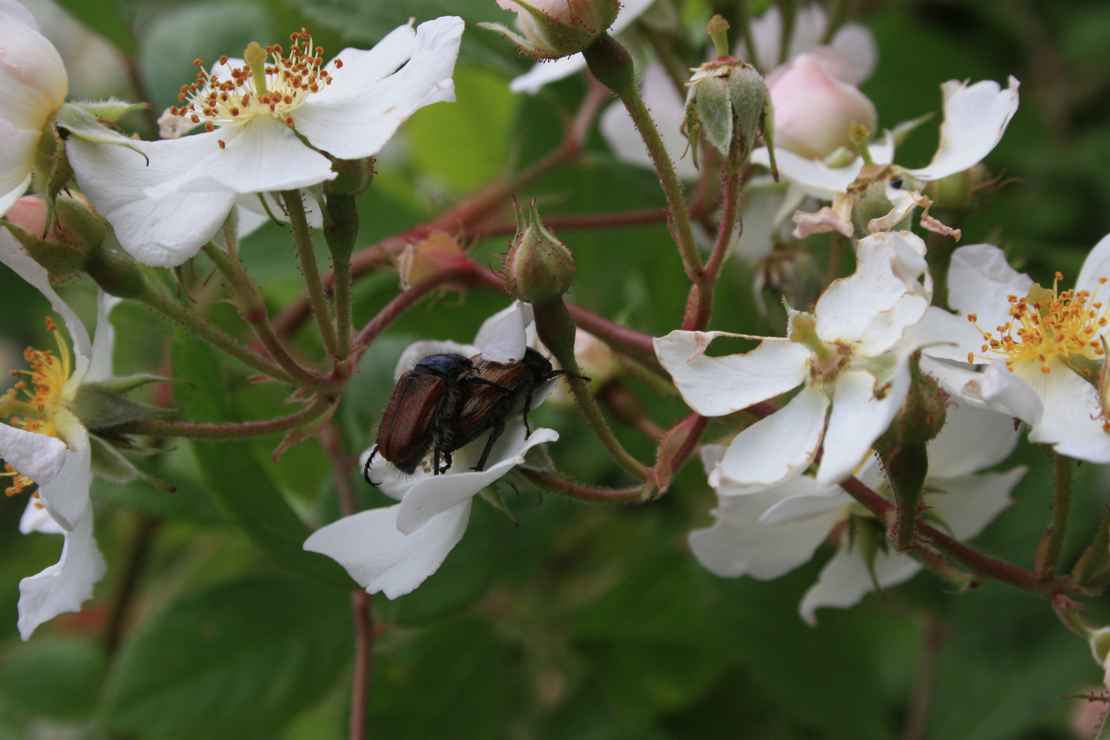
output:
[[[463,388],[450,452],[455,452],[490,432],[490,439],[482,450],[482,457],[472,469],[485,468],[490,450],[504,433],[507,419],[523,414],[525,434],[532,434],[528,427],[532,394],[538,386],[559,375],[574,375],[574,373],[554,369],[551,361],[532,347],[525,349],[524,357],[515,363],[496,363],[485,359],[482,355],[472,357],[471,368],[464,373],[462,379],[484,378],[491,383],[473,384]],[[589,379],[584,375],[574,377]]]

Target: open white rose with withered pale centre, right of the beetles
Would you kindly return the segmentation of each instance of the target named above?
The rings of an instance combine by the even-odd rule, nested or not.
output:
[[[745,354],[705,355],[715,337],[737,336],[725,332],[676,331],[655,341],[683,398],[704,416],[798,389],[736,436],[712,485],[757,490],[783,483],[809,467],[823,439],[817,483],[851,475],[909,391],[912,345],[902,336],[932,297],[924,255],[925,243],[909,232],[861,240],[855,274],[834,282],[811,315],[791,310],[787,337],[747,337],[760,344]]]

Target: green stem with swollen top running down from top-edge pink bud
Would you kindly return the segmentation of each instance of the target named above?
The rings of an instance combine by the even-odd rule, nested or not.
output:
[[[667,205],[670,209],[670,222],[675,234],[675,243],[683,257],[683,265],[692,282],[697,282],[702,273],[702,256],[698,254],[697,244],[694,242],[694,230],[690,227],[690,215],[686,209],[686,200],[683,197],[683,186],[678,182],[675,173],[675,165],[670,161],[670,154],[663,144],[652,114],[640,98],[639,88],[636,85],[636,69],[633,65],[628,51],[620,45],[620,42],[608,33],[603,33],[594,43],[583,52],[589,71],[605,87],[617,93],[620,101],[628,109],[633,123],[639,131],[647,153],[652,158],[655,171],[659,174],[659,184],[663,185],[663,193],[667,197]]]

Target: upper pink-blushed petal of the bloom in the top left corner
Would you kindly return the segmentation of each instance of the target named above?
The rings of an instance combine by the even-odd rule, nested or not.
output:
[[[58,50],[29,14],[12,0],[0,2],[0,119],[39,131],[65,101],[68,79]]]

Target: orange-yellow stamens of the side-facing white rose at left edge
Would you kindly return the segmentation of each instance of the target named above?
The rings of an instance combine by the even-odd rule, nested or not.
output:
[[[28,377],[20,379],[14,387],[0,396],[0,418],[6,418],[8,424],[18,429],[60,438],[54,416],[62,408],[62,388],[73,372],[73,364],[58,324],[48,317],[47,328],[58,342],[58,354],[34,347],[23,351],[23,359],[30,365],[30,369],[11,371],[11,374],[16,377],[23,375]],[[7,464],[0,477],[12,479],[11,485],[4,488],[4,494],[8,496],[14,496],[32,483],[26,475]]]

